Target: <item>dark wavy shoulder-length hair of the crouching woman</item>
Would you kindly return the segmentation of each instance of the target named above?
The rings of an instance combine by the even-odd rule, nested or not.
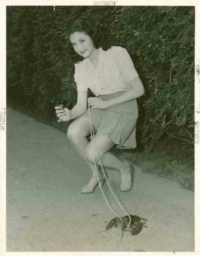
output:
[[[96,27],[92,27],[87,19],[78,19],[71,26],[69,30],[69,36],[74,32],[84,32],[86,35],[90,36],[96,49],[101,47],[106,51],[111,48],[111,39],[108,36],[105,26],[102,24]],[[78,63],[84,60],[81,55],[75,52],[69,38],[67,43],[67,53],[73,63]]]

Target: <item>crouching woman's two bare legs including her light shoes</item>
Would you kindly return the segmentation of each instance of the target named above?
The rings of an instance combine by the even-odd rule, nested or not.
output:
[[[71,123],[67,131],[69,140],[73,143],[79,155],[89,165],[93,174],[87,186],[83,187],[82,193],[93,192],[95,186],[98,184],[93,156],[95,156],[97,165],[100,163],[96,148],[93,149],[92,142],[89,142],[86,138],[89,134],[90,124],[88,114],[86,112],[81,117],[77,118],[73,123]],[[126,162],[119,160],[117,157],[107,152],[115,145],[113,141],[110,140],[108,135],[98,134],[95,136],[93,144],[97,146],[103,166],[117,169],[121,173],[121,191],[129,190],[132,185],[129,166]],[[97,173],[101,178],[98,166]]]

